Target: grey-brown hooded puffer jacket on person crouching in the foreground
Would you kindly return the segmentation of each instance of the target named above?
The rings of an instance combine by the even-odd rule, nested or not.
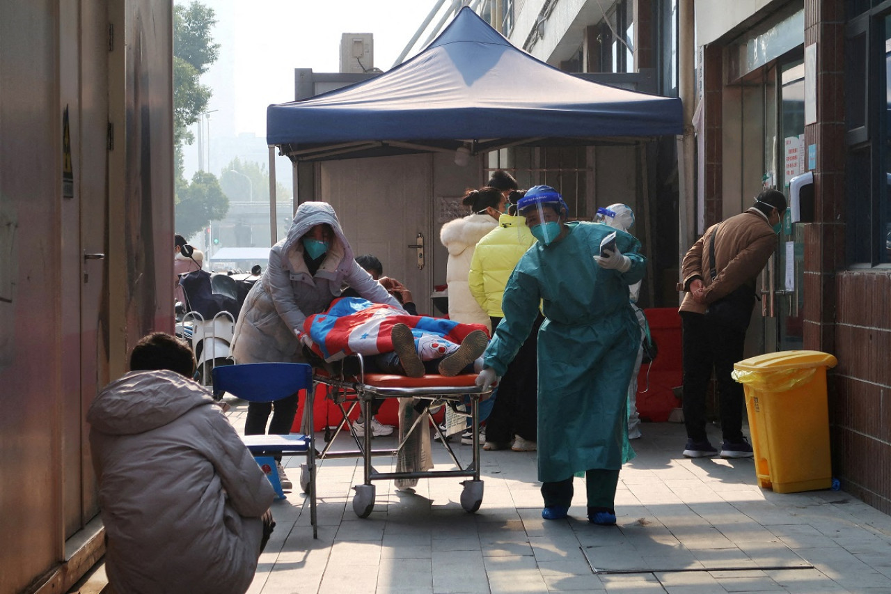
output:
[[[241,593],[274,499],[266,475],[199,384],[134,371],[86,420],[116,591]]]

